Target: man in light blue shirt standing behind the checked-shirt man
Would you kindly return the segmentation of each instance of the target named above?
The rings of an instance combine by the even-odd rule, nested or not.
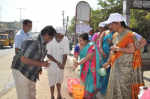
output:
[[[23,41],[30,36],[29,31],[32,29],[32,21],[25,19],[23,21],[23,28],[18,31],[15,35],[15,53],[19,50],[21,47],[21,44]]]

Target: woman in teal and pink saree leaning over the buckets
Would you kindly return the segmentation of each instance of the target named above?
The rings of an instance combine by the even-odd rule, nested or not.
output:
[[[81,84],[85,86],[84,98],[91,99],[94,92],[100,87],[99,52],[96,45],[89,42],[87,33],[81,34],[78,39],[79,44],[75,46],[74,51],[74,68],[80,65]],[[79,61],[76,61],[78,56]]]

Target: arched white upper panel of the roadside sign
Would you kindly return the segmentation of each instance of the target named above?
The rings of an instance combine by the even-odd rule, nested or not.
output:
[[[76,20],[77,21],[90,21],[91,8],[86,2],[79,2],[76,6]]]

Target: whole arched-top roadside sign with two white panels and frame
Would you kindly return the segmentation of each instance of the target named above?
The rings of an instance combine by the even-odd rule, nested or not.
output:
[[[90,16],[91,16],[91,7],[85,1],[80,1],[76,5],[76,15],[75,15],[75,38],[77,33],[89,33],[90,29]],[[74,39],[76,45],[76,40]]]

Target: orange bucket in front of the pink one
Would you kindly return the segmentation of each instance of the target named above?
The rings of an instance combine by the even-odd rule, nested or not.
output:
[[[84,88],[85,86],[81,84],[72,85],[73,99],[83,99],[84,98]]]

